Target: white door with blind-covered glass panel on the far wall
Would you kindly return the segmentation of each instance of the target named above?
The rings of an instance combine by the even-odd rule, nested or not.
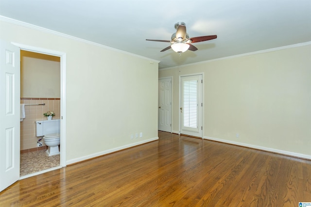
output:
[[[180,78],[180,133],[202,137],[202,75]]]

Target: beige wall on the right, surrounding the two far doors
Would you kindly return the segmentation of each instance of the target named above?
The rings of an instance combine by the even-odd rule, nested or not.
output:
[[[204,138],[311,158],[310,44],[160,70],[173,77],[174,132],[179,76],[193,73],[204,75]]]

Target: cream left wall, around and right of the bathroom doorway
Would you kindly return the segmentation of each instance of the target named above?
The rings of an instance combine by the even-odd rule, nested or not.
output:
[[[0,27],[5,41],[66,53],[67,163],[157,138],[157,62],[11,21]]]

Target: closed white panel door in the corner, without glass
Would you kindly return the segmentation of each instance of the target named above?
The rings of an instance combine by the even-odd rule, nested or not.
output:
[[[172,79],[159,79],[158,130],[172,132]]]

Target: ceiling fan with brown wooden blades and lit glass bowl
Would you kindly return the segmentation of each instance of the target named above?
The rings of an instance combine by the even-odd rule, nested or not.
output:
[[[188,33],[186,32],[186,24],[185,22],[177,22],[175,24],[176,32],[173,33],[171,40],[150,40],[148,41],[156,41],[156,42],[169,42],[171,46],[164,48],[161,52],[166,51],[172,48],[178,54],[187,51],[188,49],[191,51],[195,51],[198,48],[194,47],[190,43],[203,42],[207,40],[216,39],[217,35],[209,35],[209,36],[200,36],[200,37],[191,37],[189,38]]]

